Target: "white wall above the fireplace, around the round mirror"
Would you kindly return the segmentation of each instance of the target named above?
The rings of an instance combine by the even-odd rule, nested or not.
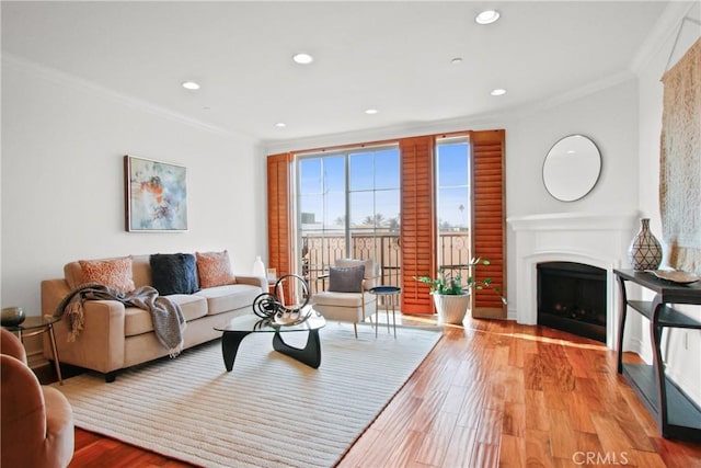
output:
[[[599,148],[599,181],[584,198],[560,202],[543,185],[542,167],[562,137],[582,134]],[[508,216],[628,212],[637,207],[637,85],[631,75],[613,85],[524,112],[507,124]]]

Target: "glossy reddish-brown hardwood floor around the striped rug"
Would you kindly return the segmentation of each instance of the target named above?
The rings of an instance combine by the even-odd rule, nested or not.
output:
[[[77,429],[70,467],[96,466],[189,465]],[[658,435],[616,373],[616,354],[601,343],[499,320],[446,327],[435,350],[338,464],[578,466],[701,467],[701,444]]]

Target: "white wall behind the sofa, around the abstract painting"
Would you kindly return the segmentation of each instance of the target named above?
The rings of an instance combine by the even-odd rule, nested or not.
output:
[[[187,168],[187,232],[125,231],[124,155]],[[39,315],[39,282],[79,259],[228,249],[250,272],[266,258],[264,168],[253,140],[3,57],[2,307]]]

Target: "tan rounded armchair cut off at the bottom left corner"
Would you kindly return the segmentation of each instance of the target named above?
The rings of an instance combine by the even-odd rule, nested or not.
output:
[[[0,329],[0,465],[64,468],[73,457],[73,411],[60,391],[42,386],[20,340]]]

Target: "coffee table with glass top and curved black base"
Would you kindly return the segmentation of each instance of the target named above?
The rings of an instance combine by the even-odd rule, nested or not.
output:
[[[273,326],[251,312],[237,317],[228,322],[215,327],[222,332],[221,354],[227,372],[233,368],[239,346],[245,336],[251,333],[273,333],[273,349],[310,367],[318,368],[321,365],[321,341],[319,330],[326,326],[326,320],[312,311],[312,317],[296,326]],[[292,332],[309,332],[304,347],[295,347],[285,343],[283,334]]]

